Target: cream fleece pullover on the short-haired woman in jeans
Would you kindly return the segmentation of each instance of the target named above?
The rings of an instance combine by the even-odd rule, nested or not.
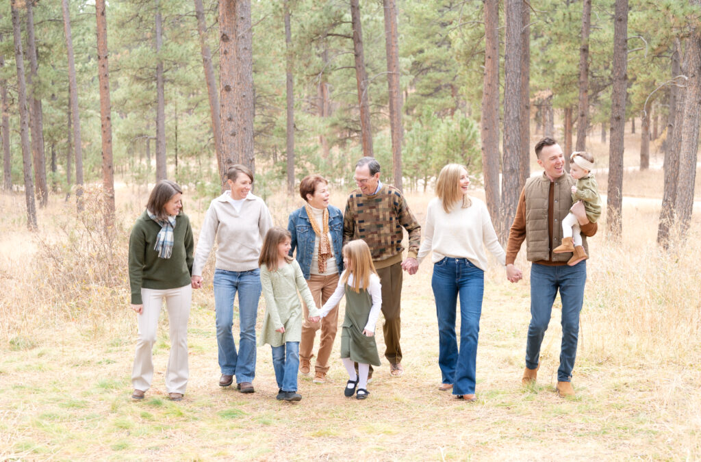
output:
[[[248,193],[240,211],[233,205],[230,191],[210,203],[195,250],[192,276],[202,269],[217,239],[217,269],[250,271],[258,268],[263,238],[273,226],[273,217],[263,199]]]

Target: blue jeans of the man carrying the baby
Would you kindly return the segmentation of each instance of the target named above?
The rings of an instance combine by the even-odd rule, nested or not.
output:
[[[562,300],[562,344],[557,381],[569,382],[577,356],[579,337],[579,313],[584,301],[584,284],[587,280],[587,262],[575,266],[531,266],[531,324],[526,341],[526,367],[536,369],[540,359],[540,344],[550,322],[552,303],[557,290]]]

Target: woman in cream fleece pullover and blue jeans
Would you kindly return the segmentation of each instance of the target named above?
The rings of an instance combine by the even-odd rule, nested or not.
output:
[[[263,199],[251,191],[253,172],[233,165],[226,172],[229,191],[210,204],[202,224],[192,267],[192,287],[202,287],[202,269],[217,239],[215,311],[217,346],[222,376],[219,386],[229,386],[236,375],[241,393],[253,393],[256,374],[256,318],[261,296],[258,257],[273,218]],[[238,292],[238,353],[231,334],[233,301]]]

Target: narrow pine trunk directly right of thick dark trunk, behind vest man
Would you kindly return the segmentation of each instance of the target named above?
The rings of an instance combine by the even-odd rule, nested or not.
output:
[[[521,149],[519,152],[519,193],[531,176],[531,6],[522,1],[521,29],[521,114],[519,115]]]

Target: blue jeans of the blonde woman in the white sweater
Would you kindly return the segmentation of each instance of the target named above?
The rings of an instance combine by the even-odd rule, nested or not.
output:
[[[454,395],[473,395],[477,369],[479,317],[482,315],[484,271],[470,260],[445,257],[433,265],[433,297],[438,316],[438,365],[443,383]],[[455,334],[456,301],[460,296],[460,350]]]

